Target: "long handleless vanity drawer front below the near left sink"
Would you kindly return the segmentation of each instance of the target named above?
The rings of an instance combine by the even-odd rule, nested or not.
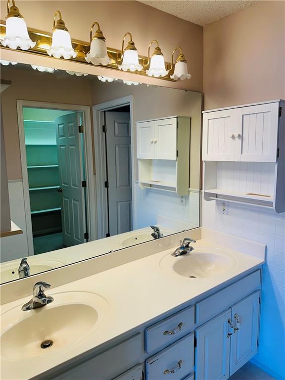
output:
[[[53,380],[110,380],[137,365],[142,356],[142,334],[136,334]],[[120,378],[119,378],[120,379]],[[125,379],[125,378],[122,378]],[[129,378],[128,380],[131,380]],[[136,379],[137,380],[137,379]],[[140,380],[140,379],[139,379]]]

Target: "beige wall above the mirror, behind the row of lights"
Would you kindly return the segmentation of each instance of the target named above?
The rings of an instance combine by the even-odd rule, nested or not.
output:
[[[6,0],[0,1],[1,19],[6,15]],[[156,39],[165,59],[171,61],[175,47],[182,47],[192,78],[171,86],[192,91],[203,87],[203,28],[138,1],[25,1],[17,2],[28,27],[52,31],[56,9],[74,39],[89,41],[90,26],[98,21],[107,46],[121,48],[126,32],[133,34],[139,54],[147,55],[151,40]],[[163,81],[165,84],[170,82]]]

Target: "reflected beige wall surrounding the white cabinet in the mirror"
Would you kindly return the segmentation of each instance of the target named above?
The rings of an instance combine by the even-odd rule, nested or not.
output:
[[[135,122],[175,115],[191,116],[190,188],[199,189],[202,94],[163,87],[126,86],[116,82],[93,81],[93,104],[128,95],[134,95]],[[136,168],[135,176],[137,180]]]

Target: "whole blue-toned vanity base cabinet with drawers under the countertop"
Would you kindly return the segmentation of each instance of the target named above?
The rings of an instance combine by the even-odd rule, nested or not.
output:
[[[226,380],[257,352],[260,275],[180,305],[42,380]]]

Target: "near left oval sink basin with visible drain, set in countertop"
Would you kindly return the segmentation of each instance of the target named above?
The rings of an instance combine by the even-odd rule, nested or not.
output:
[[[6,360],[58,355],[57,350],[74,347],[88,337],[109,313],[106,300],[95,293],[50,294],[54,301],[46,306],[22,311],[19,304],[1,314],[1,356]],[[47,340],[52,345],[42,348]]]

